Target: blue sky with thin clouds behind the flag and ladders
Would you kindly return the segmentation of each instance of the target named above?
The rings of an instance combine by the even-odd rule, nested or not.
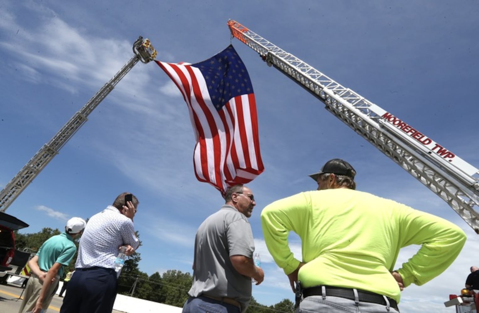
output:
[[[1,1],[0,187],[133,56],[138,35],[158,60],[195,63],[230,43],[234,19],[345,87],[398,116],[478,167],[477,1]],[[249,47],[232,40],[248,68],[258,107],[265,171],[249,187],[250,219],[265,280],[263,304],[293,300],[269,256],[260,212],[270,202],[316,189],[308,174],[340,157],[358,190],[431,212],[459,225],[465,248],[441,276],[402,292],[404,312],[450,312],[443,302],[478,266],[479,239],[441,199],[355,134],[308,92]],[[137,64],[8,208],[24,232],[88,218],[117,194],[140,205],[140,269],[190,271],[194,234],[223,202],[193,171],[186,104],[156,64]],[[477,175],[476,175],[477,177]],[[300,258],[300,243],[290,244]],[[398,267],[417,246],[403,249]]]

